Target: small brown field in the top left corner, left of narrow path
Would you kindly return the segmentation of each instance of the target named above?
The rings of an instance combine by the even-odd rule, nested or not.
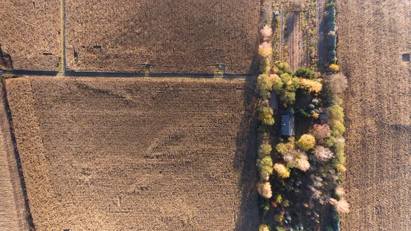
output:
[[[10,55],[14,69],[58,69],[60,18],[60,0],[0,1],[1,50]]]

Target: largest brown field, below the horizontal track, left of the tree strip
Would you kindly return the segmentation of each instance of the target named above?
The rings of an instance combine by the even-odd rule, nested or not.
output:
[[[36,231],[256,230],[248,80],[6,80]]]

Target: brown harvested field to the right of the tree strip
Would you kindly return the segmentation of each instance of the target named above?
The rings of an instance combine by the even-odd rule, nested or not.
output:
[[[338,3],[345,96],[347,200],[342,230],[411,230],[411,4]]]

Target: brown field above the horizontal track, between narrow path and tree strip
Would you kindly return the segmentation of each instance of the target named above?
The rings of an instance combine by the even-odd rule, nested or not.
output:
[[[66,1],[71,71],[255,73],[260,1]]]

